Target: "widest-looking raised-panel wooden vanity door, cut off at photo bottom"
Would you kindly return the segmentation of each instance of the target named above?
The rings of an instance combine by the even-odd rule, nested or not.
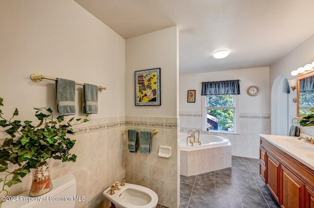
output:
[[[284,166],[281,166],[281,175],[281,207],[303,208],[304,184]]]

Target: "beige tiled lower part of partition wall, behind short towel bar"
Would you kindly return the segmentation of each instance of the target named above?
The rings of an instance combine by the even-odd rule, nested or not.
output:
[[[137,130],[157,129],[152,135],[150,154],[130,153],[125,149],[127,182],[143,185],[158,195],[158,204],[177,208],[180,203],[179,118],[126,116],[126,128]],[[128,134],[125,133],[128,142]],[[158,156],[159,146],[170,146],[170,158]],[[178,167],[179,166],[179,167]]]

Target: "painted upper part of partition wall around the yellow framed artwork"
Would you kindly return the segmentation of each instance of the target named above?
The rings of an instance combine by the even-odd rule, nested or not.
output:
[[[174,26],[126,40],[126,116],[178,116],[178,34]],[[161,106],[135,106],[134,71],[155,68],[161,68]]]

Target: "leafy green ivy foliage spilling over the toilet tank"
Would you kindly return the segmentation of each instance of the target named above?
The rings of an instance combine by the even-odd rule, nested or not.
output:
[[[3,106],[3,99],[0,97],[0,106]],[[76,140],[66,138],[67,134],[73,135],[75,132],[72,126],[87,122],[85,119],[71,118],[64,121],[64,116],[53,118],[51,108],[34,108],[35,116],[40,121],[35,127],[32,121],[12,119],[19,115],[17,109],[10,119],[5,119],[0,109],[0,126],[5,128],[10,137],[4,139],[0,146],[0,172],[5,175],[0,178],[3,182],[0,193],[8,191],[5,186],[10,187],[21,183],[21,179],[30,173],[30,168],[37,168],[46,163],[47,159],[62,160],[62,162],[75,162],[77,156],[69,151],[73,148]],[[73,121],[76,121],[72,124]],[[9,164],[17,164],[13,171],[9,171]]]

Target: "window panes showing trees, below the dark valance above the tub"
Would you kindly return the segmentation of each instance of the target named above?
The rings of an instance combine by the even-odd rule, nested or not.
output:
[[[235,133],[236,95],[205,96],[205,130]]]

